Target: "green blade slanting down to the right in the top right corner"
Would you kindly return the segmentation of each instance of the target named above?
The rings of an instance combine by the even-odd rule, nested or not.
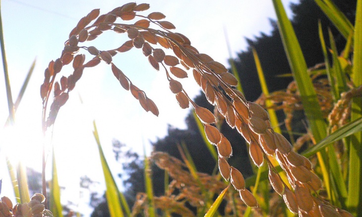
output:
[[[331,0],[314,0],[319,8],[327,15],[327,17],[336,26],[338,31],[348,39],[353,32],[353,25],[347,17],[338,9]]]

